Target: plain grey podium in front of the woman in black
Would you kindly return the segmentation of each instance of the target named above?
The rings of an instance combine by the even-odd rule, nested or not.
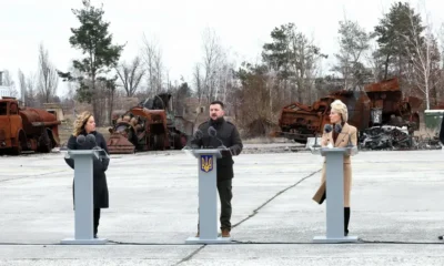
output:
[[[65,158],[74,160],[74,238],[61,244],[98,245],[105,238],[94,238],[93,232],[93,161],[109,157],[104,150],[69,150]]]

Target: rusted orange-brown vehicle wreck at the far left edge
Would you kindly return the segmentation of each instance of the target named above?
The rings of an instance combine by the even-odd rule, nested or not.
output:
[[[19,108],[14,98],[0,100],[0,152],[49,153],[60,145],[56,115],[41,109]]]

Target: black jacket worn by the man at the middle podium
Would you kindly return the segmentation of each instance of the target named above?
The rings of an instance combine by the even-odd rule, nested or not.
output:
[[[213,126],[216,130],[216,137],[210,136],[208,130]],[[234,177],[232,158],[233,155],[239,155],[242,152],[243,145],[241,136],[235,125],[225,121],[223,117],[216,121],[208,120],[199,125],[199,131],[202,135],[194,134],[191,140],[191,146],[194,149],[216,149],[223,145],[231,150],[230,152],[222,152],[222,157],[218,158],[218,181],[231,180]],[[222,142],[222,143],[221,143]]]

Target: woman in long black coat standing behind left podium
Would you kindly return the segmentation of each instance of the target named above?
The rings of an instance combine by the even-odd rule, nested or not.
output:
[[[87,136],[92,134],[95,136],[95,143],[85,141],[82,144],[77,142],[79,135]],[[81,113],[74,122],[74,131],[68,140],[69,150],[92,150],[95,146],[103,149],[108,153],[107,142],[102,134],[95,131],[94,116],[88,111]],[[72,158],[64,158],[67,164],[74,168],[74,161]],[[97,238],[100,219],[100,208],[109,207],[108,184],[105,172],[110,163],[109,158],[94,158],[93,162],[93,198],[94,198],[94,238]],[[72,186],[74,195],[74,186]]]

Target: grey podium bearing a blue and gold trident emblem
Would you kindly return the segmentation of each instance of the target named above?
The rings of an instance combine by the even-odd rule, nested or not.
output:
[[[184,150],[198,158],[199,171],[199,237],[189,237],[185,244],[223,244],[231,237],[218,237],[218,163],[219,149]]]

